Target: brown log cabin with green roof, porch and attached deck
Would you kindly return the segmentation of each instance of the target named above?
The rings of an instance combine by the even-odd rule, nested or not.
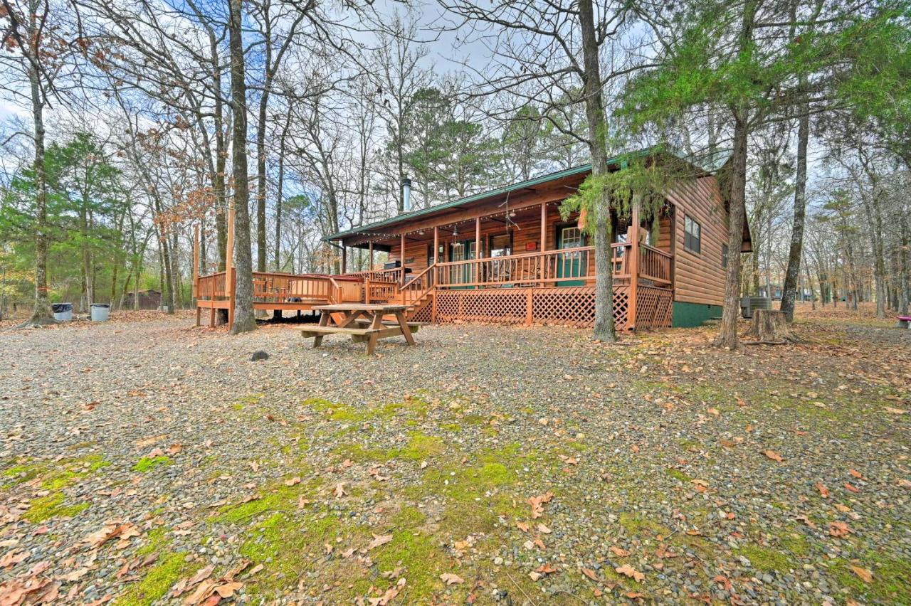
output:
[[[730,155],[699,162],[652,148],[637,155],[683,162],[688,170],[653,216],[637,207],[625,215],[611,209],[616,327],[692,327],[720,317],[729,258],[729,203],[720,180]],[[613,158],[609,168],[619,170],[623,161]],[[358,300],[404,304],[416,322],[589,328],[594,246],[578,214],[561,217],[560,205],[590,173],[590,165],[575,167],[445,204],[406,206],[397,217],[333,234],[324,239],[341,253],[341,276],[254,272],[254,307],[300,310]],[[348,251],[358,248],[367,252],[368,267],[346,272]],[[751,250],[744,226],[742,252]],[[383,267],[374,265],[377,257],[384,257]],[[194,278],[198,305],[212,309],[212,318],[214,308],[232,308],[228,280]],[[198,307],[198,323],[199,313]]]

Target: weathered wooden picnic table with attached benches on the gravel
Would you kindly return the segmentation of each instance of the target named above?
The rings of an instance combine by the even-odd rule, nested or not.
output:
[[[367,355],[374,355],[376,341],[380,338],[404,336],[408,345],[415,345],[411,336],[420,324],[405,321],[404,305],[380,305],[369,303],[336,303],[313,307],[320,312],[320,325],[304,328],[304,338],[313,338],[313,347],[322,345],[326,335],[351,335],[353,342],[367,341]],[[339,316],[341,318],[338,318]],[[394,322],[384,322],[385,316],[394,316]],[[336,318],[338,321],[336,321]]]

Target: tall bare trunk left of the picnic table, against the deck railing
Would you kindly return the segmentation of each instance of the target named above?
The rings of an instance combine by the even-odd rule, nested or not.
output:
[[[230,6],[230,92],[233,108],[231,164],[234,175],[234,322],[232,335],[256,329],[253,315],[253,259],[250,243],[250,185],[247,180],[247,84],[244,80],[241,0]]]

